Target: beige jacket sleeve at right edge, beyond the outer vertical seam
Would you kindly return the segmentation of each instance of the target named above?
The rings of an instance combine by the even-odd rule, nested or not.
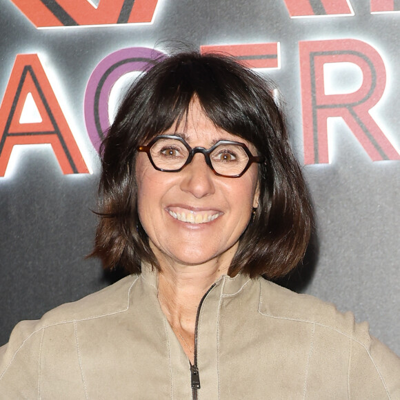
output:
[[[350,399],[400,400],[400,358],[374,337],[352,340],[348,383]]]

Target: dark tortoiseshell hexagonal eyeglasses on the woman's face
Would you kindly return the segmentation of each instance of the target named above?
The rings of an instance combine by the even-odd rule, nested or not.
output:
[[[191,148],[181,137],[161,135],[154,137],[148,146],[138,146],[139,152],[146,152],[152,166],[163,172],[179,172],[202,153],[207,165],[219,177],[239,178],[252,163],[261,163],[263,157],[255,157],[244,143],[220,140],[209,149]]]

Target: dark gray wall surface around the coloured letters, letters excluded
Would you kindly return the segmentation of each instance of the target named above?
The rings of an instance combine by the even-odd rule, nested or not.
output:
[[[310,9],[329,12],[324,3],[332,2],[311,0]],[[350,3],[354,15],[290,18],[283,0],[159,0],[152,24],[37,29],[12,1],[1,0],[0,98],[17,54],[39,54],[92,174],[63,174],[49,146],[14,149],[0,178],[0,344],[19,320],[40,318],[118,279],[118,274],[104,274],[98,261],[84,259],[96,223],[90,208],[96,202],[99,161],[83,101],[93,70],[116,50],[168,52],[165,39],[189,41],[195,48],[279,42],[281,68],[260,72],[281,88],[294,150],[303,162],[299,41],[364,41],[385,62],[386,88],[372,114],[398,156],[400,13],[372,14],[370,2]],[[333,76],[332,86],[339,93],[351,91],[362,79],[361,72],[344,68]],[[323,82],[317,79],[317,85]],[[8,114],[0,110],[0,117]],[[399,354],[399,157],[372,161],[342,119],[330,121],[328,138],[331,162],[304,166],[317,234],[306,265],[282,283],[352,310],[357,321],[369,321],[372,334]]]

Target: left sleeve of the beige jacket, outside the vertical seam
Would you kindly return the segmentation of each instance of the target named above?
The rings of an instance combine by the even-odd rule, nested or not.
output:
[[[0,399],[85,399],[74,327],[74,321],[18,323],[0,348]]]

